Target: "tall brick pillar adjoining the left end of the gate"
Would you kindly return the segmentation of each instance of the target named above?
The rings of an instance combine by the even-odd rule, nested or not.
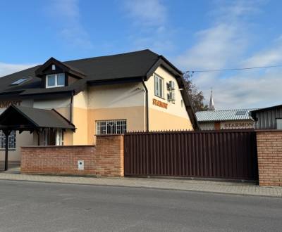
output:
[[[124,176],[123,135],[100,135],[96,138],[97,176]]]

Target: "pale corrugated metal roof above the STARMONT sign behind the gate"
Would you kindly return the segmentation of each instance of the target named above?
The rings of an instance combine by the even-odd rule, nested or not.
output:
[[[251,120],[250,111],[254,109],[238,110],[208,110],[196,112],[198,122],[215,122],[215,121],[233,121],[233,120]]]

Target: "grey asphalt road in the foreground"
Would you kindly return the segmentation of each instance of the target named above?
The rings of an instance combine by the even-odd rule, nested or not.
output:
[[[281,231],[282,199],[0,181],[0,231]]]

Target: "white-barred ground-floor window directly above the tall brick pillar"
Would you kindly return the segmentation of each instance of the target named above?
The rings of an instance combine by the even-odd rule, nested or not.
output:
[[[96,134],[123,134],[126,131],[126,120],[97,121],[96,131]]]

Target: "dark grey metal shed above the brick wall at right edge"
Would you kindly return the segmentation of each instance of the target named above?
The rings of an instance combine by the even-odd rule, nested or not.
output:
[[[255,129],[282,129],[282,105],[253,110]]]

